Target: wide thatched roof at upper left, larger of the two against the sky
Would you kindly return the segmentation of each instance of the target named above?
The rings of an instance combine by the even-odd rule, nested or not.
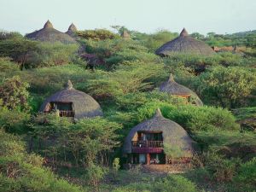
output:
[[[44,24],[43,29],[26,34],[26,38],[51,43],[61,42],[63,44],[76,44],[74,38],[70,37],[64,32],[59,32],[58,30],[55,30],[49,20],[47,20],[47,22]]]

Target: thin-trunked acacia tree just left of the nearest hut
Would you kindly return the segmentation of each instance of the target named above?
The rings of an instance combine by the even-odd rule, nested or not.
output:
[[[119,128],[119,124],[102,118],[82,119],[70,126],[61,141],[65,142],[67,152],[73,154],[77,166],[81,163],[87,167],[96,161],[108,166],[109,152],[119,143],[115,133]]]

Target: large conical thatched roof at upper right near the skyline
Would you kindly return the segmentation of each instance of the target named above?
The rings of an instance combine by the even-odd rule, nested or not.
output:
[[[185,53],[185,54],[196,54],[196,55],[212,55],[214,51],[207,44],[196,40],[195,38],[189,37],[189,33],[183,28],[179,37],[173,39],[162,45],[155,51],[156,55],[172,55],[172,53]]]

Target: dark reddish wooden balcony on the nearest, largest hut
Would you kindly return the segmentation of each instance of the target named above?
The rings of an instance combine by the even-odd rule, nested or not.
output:
[[[163,141],[136,141],[131,142],[132,153],[147,154],[155,153],[160,154],[163,152]]]

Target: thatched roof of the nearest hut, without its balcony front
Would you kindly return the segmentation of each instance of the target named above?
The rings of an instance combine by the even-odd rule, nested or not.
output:
[[[187,131],[181,125],[164,118],[159,108],[152,119],[145,120],[131,129],[125,138],[124,154],[131,154],[131,141],[136,137],[137,131],[162,131],[164,145],[181,148],[188,157],[193,154],[194,141]]]

